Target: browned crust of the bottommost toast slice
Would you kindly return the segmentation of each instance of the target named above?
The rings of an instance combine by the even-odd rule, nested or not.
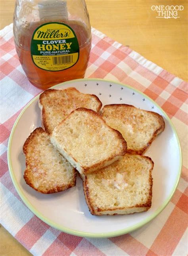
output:
[[[123,208],[123,207],[114,207],[114,208],[94,208],[94,202],[90,196],[90,189],[88,184],[88,178],[87,175],[82,178],[82,184],[83,184],[83,190],[84,190],[84,196],[86,200],[86,204],[88,205],[88,209],[92,215],[117,215],[117,214],[132,214],[134,212],[141,212],[141,211],[148,211],[148,209],[152,206],[152,186],[153,186],[153,178],[152,178],[152,170],[154,163],[152,159],[148,156],[142,156],[145,159],[148,159],[152,165],[152,167],[149,170],[149,194],[148,194],[148,200],[144,204],[136,204],[134,206],[131,206],[129,208]],[[101,170],[102,171],[102,170]],[[132,210],[132,212],[131,212]],[[127,213],[128,211],[128,213]]]

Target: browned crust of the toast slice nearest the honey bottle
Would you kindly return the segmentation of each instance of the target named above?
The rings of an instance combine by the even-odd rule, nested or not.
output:
[[[71,92],[76,92],[80,95],[84,95],[84,93],[81,93],[80,91],[78,91],[75,87],[69,87],[66,89],[47,89],[46,91],[44,91],[43,93],[40,94],[39,97],[39,101],[38,101],[38,105],[39,108],[41,110],[41,122],[42,122],[42,128],[48,133],[51,134],[52,133],[52,128],[50,128],[49,124],[48,124],[48,120],[47,120],[47,114],[46,114],[46,110],[45,110],[45,106],[43,105],[43,100],[45,101],[45,98],[48,97],[49,95],[51,95],[52,93],[56,93],[57,91],[67,91],[69,93]],[[98,107],[96,109],[97,112],[100,111],[101,107],[102,107],[102,102],[100,101],[100,99],[94,95],[94,94],[85,94],[85,95],[90,95],[93,98],[95,98],[96,103],[98,104]],[[65,106],[63,105],[63,98],[62,98],[62,108],[64,109]]]

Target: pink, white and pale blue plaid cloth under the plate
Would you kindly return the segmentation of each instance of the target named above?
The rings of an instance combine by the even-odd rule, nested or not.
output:
[[[1,223],[34,255],[186,255],[187,254],[187,91],[188,84],[96,29],[86,77],[121,81],[146,93],[174,123],[183,154],[182,176],[167,207],[144,227],[119,237],[91,239],[68,235],[38,219],[21,201],[10,178],[7,145],[23,107],[40,90],[19,63],[12,24],[0,31]]]

